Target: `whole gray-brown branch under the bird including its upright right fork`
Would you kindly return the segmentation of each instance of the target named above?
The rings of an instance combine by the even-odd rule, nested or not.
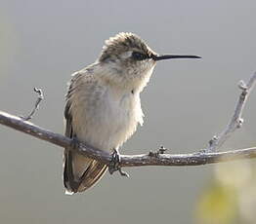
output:
[[[234,116],[228,125],[218,137],[214,137],[210,141],[207,149],[192,154],[164,154],[161,148],[156,153],[149,152],[144,155],[122,155],[121,167],[139,167],[139,166],[198,166],[205,164],[213,164],[227,161],[235,161],[240,159],[256,158],[256,147],[247,149],[230,150],[226,152],[213,152],[219,148],[230,134],[241,126],[241,113],[248,97],[256,81],[256,73],[250,78],[247,84],[241,82],[239,88],[242,93],[239,95],[238,102],[235,106]],[[90,145],[79,143],[74,146],[72,139],[65,137],[60,133],[44,130],[30,122],[24,121],[17,116],[0,111],[0,124],[13,128],[17,131],[30,134],[42,140],[49,141],[61,147],[68,147],[81,155],[98,160],[106,165],[111,161],[111,154],[106,151],[96,149]],[[75,148],[74,148],[75,147]]]

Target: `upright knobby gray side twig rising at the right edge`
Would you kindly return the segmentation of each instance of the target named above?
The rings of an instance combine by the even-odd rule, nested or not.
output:
[[[249,96],[249,93],[253,89],[256,81],[256,72],[249,79],[248,83],[245,84],[244,81],[240,81],[238,84],[238,88],[241,90],[238,101],[235,105],[234,115],[228,124],[227,128],[222,131],[218,136],[213,136],[213,138],[209,141],[209,147],[206,148],[205,152],[214,152],[218,148],[220,148],[223,143],[231,136],[231,134],[241,128],[243,124],[242,112],[245,105],[245,102]]]

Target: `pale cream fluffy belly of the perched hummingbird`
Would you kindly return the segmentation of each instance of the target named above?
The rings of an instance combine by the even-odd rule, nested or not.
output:
[[[114,99],[104,95],[79,114],[84,123],[79,124],[79,131],[76,131],[78,139],[107,151],[121,146],[136,131],[138,123],[143,122],[139,95],[133,94]]]

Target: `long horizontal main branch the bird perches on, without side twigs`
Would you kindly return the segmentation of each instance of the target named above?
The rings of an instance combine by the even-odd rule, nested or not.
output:
[[[11,127],[17,131],[30,134],[42,140],[46,140],[61,147],[74,150],[81,155],[100,161],[108,165],[111,154],[107,151],[96,149],[92,146],[80,143],[73,148],[72,139],[60,133],[44,130],[38,126],[25,122],[17,116],[0,111],[0,124]],[[192,153],[192,154],[145,154],[145,155],[121,155],[121,167],[139,166],[198,166],[205,164],[235,161],[240,159],[256,158],[256,147],[248,149],[231,150],[215,153]]]

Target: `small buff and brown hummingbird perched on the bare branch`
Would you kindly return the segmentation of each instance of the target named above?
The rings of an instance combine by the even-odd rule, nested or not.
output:
[[[156,62],[200,56],[158,55],[138,35],[110,37],[96,61],[72,74],[65,95],[65,136],[107,150],[118,161],[118,149],[143,125],[140,93],[149,83]],[[121,171],[117,163],[108,166]],[[64,149],[66,194],[94,186],[107,165]]]

